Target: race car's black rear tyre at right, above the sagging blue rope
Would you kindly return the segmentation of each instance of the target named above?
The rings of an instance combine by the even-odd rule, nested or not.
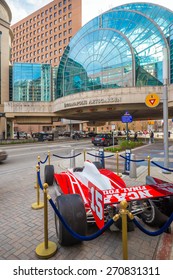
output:
[[[151,227],[162,227],[168,220],[168,216],[163,214],[152,200],[148,199],[146,203],[149,208],[140,214],[140,218]]]

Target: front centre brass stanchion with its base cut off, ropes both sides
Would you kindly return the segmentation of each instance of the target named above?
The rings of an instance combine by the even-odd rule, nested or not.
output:
[[[117,221],[119,217],[122,219],[122,243],[123,243],[123,260],[128,260],[128,244],[127,244],[127,215],[133,219],[133,214],[127,210],[128,203],[126,200],[120,202],[119,214],[113,217]]]

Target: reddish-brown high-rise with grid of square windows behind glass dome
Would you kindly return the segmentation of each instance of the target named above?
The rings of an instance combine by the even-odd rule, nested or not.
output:
[[[54,0],[12,25],[11,62],[59,65],[82,26],[82,0]]]

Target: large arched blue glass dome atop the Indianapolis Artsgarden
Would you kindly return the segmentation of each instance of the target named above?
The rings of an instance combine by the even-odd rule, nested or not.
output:
[[[161,86],[163,48],[172,81],[172,23],[173,11],[151,3],[121,5],[94,18],[64,51],[56,98],[106,88]]]

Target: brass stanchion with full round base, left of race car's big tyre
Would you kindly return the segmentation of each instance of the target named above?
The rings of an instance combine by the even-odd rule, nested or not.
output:
[[[52,257],[58,247],[57,244],[48,240],[48,207],[47,207],[47,198],[50,199],[50,196],[47,195],[48,184],[43,184],[44,188],[44,242],[39,244],[35,250],[37,256],[41,259],[48,259]]]

